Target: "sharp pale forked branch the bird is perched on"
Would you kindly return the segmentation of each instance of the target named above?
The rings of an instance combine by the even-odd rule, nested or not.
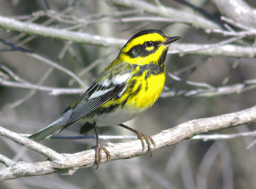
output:
[[[256,106],[239,112],[224,114],[222,116],[191,120],[179,124],[174,128],[161,131],[160,133],[152,136],[156,144],[156,146],[152,148],[152,151],[162,149],[184,139],[192,138],[197,134],[230,128],[254,121],[256,121]],[[50,160],[52,160],[37,163],[17,162],[1,170],[0,182],[22,176],[51,174],[63,170],[72,173],[72,170],[80,169],[82,167],[89,167],[94,163],[94,150],[88,150],[74,154],[59,154],[37,142],[22,137],[21,135],[2,127],[0,127],[0,135],[14,140],[26,148],[36,150],[37,152],[46,155],[48,158],[50,158]],[[142,146],[140,144],[140,140],[109,144],[106,146],[107,150],[111,154],[109,161],[117,159],[129,159],[145,154],[147,149],[142,151]],[[2,158],[1,160],[5,161],[5,158]],[[105,162],[106,158],[105,154],[103,153],[103,159],[101,163]]]

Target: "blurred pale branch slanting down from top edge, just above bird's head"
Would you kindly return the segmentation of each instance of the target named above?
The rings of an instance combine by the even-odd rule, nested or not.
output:
[[[125,6],[130,8],[136,8],[142,10],[146,13],[151,13],[155,15],[160,15],[169,18],[179,18],[191,20],[191,25],[195,28],[221,28],[218,24],[214,23],[212,20],[206,19],[200,15],[191,14],[183,10],[174,9],[166,6],[156,6],[144,1],[138,0],[107,0],[108,3],[114,5]]]

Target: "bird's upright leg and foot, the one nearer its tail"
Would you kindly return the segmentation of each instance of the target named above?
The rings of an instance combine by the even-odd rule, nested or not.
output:
[[[94,128],[94,131],[95,131],[95,136],[96,136],[96,147],[95,147],[95,161],[94,161],[94,167],[95,169],[98,169],[100,163],[101,163],[101,151],[103,150],[106,154],[106,158],[107,158],[107,161],[109,160],[110,158],[110,153],[109,151],[106,150],[105,147],[102,146],[101,142],[100,142],[100,139],[99,139],[99,134],[98,134],[98,131],[97,131],[97,125],[96,125],[96,122],[93,122],[93,128]]]

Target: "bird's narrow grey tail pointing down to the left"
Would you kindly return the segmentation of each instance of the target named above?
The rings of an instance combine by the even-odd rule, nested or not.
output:
[[[70,119],[72,112],[72,109],[67,109],[54,122],[48,124],[45,128],[30,135],[28,138],[34,141],[40,141],[48,135],[54,133],[55,131],[66,127],[66,122],[68,119]]]

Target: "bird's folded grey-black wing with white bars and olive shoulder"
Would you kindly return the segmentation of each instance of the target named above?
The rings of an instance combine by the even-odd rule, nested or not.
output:
[[[103,103],[118,95],[126,88],[131,77],[130,64],[107,67],[102,74],[86,90],[84,95],[70,108],[73,113],[66,122],[66,127],[100,107]]]

